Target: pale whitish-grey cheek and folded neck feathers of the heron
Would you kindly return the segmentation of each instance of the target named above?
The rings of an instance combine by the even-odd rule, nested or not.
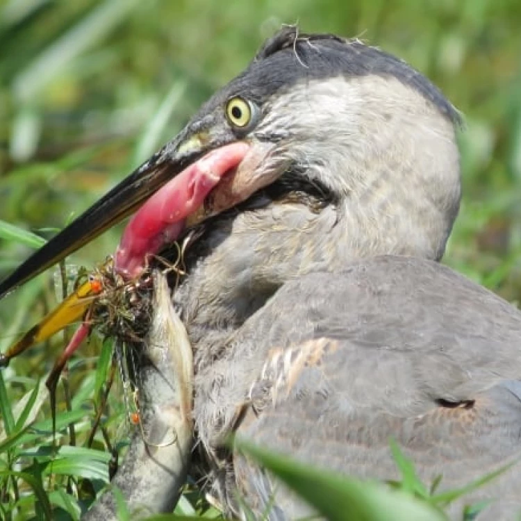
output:
[[[286,129],[281,162],[298,165],[337,200],[319,213],[274,202],[215,226],[210,254],[174,297],[199,368],[219,358],[234,331],[293,277],[338,272],[379,254],[439,259],[458,211],[453,124],[397,79],[306,83],[268,108],[258,135]]]

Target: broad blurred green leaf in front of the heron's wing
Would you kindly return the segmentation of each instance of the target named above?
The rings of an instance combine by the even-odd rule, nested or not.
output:
[[[402,490],[359,481],[298,463],[243,441],[235,447],[253,456],[330,521],[440,521],[445,516]]]

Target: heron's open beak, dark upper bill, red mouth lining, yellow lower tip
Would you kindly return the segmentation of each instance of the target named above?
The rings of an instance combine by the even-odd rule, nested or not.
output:
[[[177,238],[186,217],[198,213],[208,193],[225,174],[236,169],[250,149],[245,142],[204,146],[204,138],[197,134],[177,138],[141,165],[2,281],[0,298],[143,205],[126,227],[114,261],[115,271],[124,278],[139,276],[147,255]],[[100,267],[107,268],[108,264]],[[104,290],[102,286],[102,279],[93,275],[1,354],[0,367],[69,324],[85,320],[97,295]]]

